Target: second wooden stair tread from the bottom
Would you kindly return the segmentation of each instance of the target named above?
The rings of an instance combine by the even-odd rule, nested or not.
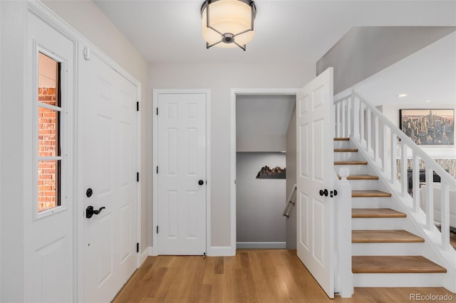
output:
[[[352,243],[424,243],[425,240],[407,230],[352,230]]]

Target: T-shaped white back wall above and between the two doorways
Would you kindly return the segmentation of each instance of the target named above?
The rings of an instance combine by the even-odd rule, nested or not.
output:
[[[208,52],[212,50],[207,50]],[[239,51],[232,49],[230,51]],[[247,50],[249,51],[249,50]],[[211,244],[228,247],[230,238],[230,97],[231,88],[302,87],[315,78],[315,64],[150,64],[149,88],[208,88],[211,90],[212,196]],[[148,111],[152,134],[152,110]],[[152,137],[147,149],[152,151]],[[152,154],[149,152],[152,163]],[[152,174],[152,166],[148,171]],[[150,210],[152,213],[152,209]],[[152,228],[152,226],[150,226]],[[149,239],[152,243],[152,238]]]

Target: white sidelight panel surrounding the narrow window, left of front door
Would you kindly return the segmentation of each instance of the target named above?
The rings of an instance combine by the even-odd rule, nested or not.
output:
[[[56,205],[46,211],[38,212],[38,110],[31,110],[38,102],[38,53],[45,53],[53,61],[61,63],[61,108],[65,115],[61,115],[61,122],[56,127],[61,129],[61,205]],[[26,112],[33,112],[33,116],[27,119],[26,132],[36,129],[33,139],[35,147],[31,148],[24,159],[33,159],[33,198],[26,207],[24,215],[24,298],[26,302],[73,302],[76,298],[76,279],[73,270],[76,262],[75,257],[75,230],[73,228],[75,218],[73,199],[73,80],[74,67],[74,43],[60,32],[56,31],[48,23],[28,13],[28,63],[29,78],[28,87],[31,90],[31,98],[28,100]],[[36,64],[38,63],[38,65]],[[54,79],[55,83],[55,79]],[[36,98],[35,98],[36,97]],[[18,113],[21,114],[21,113]],[[14,114],[15,115],[15,114]],[[36,123],[32,123],[36,122]],[[26,136],[28,138],[28,136]],[[28,160],[26,160],[28,163]],[[36,175],[34,175],[36,174]],[[58,195],[57,193],[57,195]],[[56,203],[57,204],[57,203]]]

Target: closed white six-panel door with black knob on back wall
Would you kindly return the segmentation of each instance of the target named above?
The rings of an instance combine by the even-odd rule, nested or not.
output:
[[[159,255],[206,252],[206,98],[157,94]]]

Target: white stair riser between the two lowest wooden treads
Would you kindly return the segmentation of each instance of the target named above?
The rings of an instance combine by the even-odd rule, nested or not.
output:
[[[352,243],[352,255],[422,255],[424,243]]]

